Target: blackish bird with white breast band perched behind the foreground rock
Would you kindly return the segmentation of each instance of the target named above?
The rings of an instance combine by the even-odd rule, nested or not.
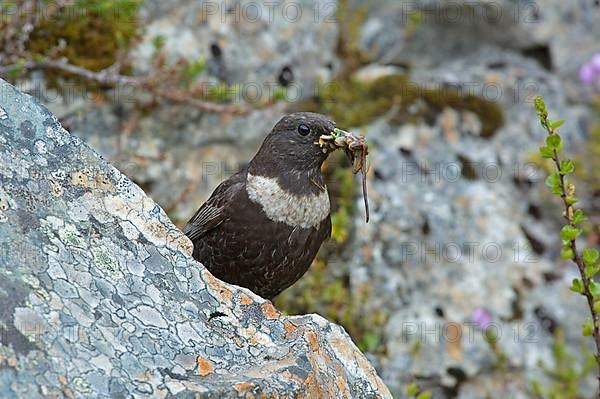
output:
[[[319,145],[335,123],[299,112],[282,118],[246,167],[223,181],[183,232],[216,277],[273,299],[308,270],[331,235]],[[344,132],[346,133],[346,132]]]

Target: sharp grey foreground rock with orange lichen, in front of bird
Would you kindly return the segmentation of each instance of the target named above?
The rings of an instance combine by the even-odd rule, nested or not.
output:
[[[50,112],[0,99],[0,397],[390,397],[339,326],[216,280]]]

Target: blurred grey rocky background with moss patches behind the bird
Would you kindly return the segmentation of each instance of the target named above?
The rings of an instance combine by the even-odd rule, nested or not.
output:
[[[278,309],[340,323],[394,397],[413,382],[434,398],[597,396],[532,104],[567,120],[597,246],[597,87],[580,77],[600,52],[594,1],[112,4],[87,19],[67,11],[90,2],[61,5],[26,34],[5,20],[0,71],[178,226],[286,112],[367,137],[371,222],[331,159],[333,239]]]

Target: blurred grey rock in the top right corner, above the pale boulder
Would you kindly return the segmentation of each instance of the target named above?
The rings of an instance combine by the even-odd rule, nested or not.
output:
[[[364,13],[365,54],[380,63],[436,67],[485,46],[520,51],[563,79],[572,101],[582,96],[581,65],[600,51],[598,2],[531,0],[350,0]]]

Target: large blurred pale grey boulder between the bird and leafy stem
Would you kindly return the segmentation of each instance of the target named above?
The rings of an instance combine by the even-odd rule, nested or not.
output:
[[[547,381],[538,361],[554,364],[556,331],[578,364],[592,342],[573,328],[587,311],[568,289],[576,269],[557,260],[561,209],[532,162],[545,133],[530,101],[543,95],[567,120],[568,151],[584,145],[585,118],[556,77],[512,51],[482,49],[416,71],[412,82],[487,98],[504,121],[484,136],[485,118],[447,106],[431,121],[364,127],[371,221],[354,216],[353,251],[341,264],[353,295],[369,289],[368,308],[389,312],[375,364],[395,397],[407,375],[436,398],[533,397],[531,381]],[[482,309],[499,334],[494,345],[476,324]],[[591,375],[583,385],[593,397]]]

